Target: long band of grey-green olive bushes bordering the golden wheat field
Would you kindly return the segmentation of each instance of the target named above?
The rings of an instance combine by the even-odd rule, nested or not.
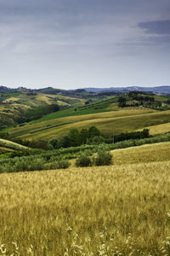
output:
[[[144,145],[146,143],[160,143],[170,141],[170,135],[161,135],[156,137],[149,137],[139,140],[128,140],[115,144],[107,145],[106,151],[110,151],[116,148],[129,148],[135,147],[139,145]],[[76,158],[81,152],[90,150],[91,154],[95,154],[100,151],[101,145],[82,145],[79,147],[71,147],[71,148],[59,148],[50,151],[44,151],[40,149],[32,149],[27,150],[27,153],[30,155],[20,156],[11,158],[11,153],[4,154],[4,156],[0,155],[0,172],[26,172],[26,171],[38,171],[38,170],[47,170],[50,169],[50,164],[59,160],[59,158],[69,160],[72,158]],[[82,154],[82,153],[81,153]],[[86,153],[87,154],[87,153]],[[105,165],[108,165],[110,162],[109,153],[97,153],[95,160],[95,165],[99,165],[101,163],[101,158],[105,159],[102,161],[105,162]],[[78,157],[80,158],[80,156]],[[81,159],[81,158],[80,158]],[[85,160],[84,160],[85,159]],[[87,160],[88,159],[88,160]],[[82,156],[82,160],[85,162],[85,166],[91,166],[91,162],[89,161],[91,158],[89,157],[89,153],[86,156]],[[54,169],[57,168],[56,165]],[[51,167],[53,169],[53,167]]]

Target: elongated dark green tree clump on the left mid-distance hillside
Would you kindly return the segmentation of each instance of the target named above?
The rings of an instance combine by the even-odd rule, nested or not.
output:
[[[27,110],[25,113],[20,114],[19,117],[15,119],[18,124],[30,122],[31,120],[40,119],[43,115],[48,113],[54,113],[59,111],[59,105],[51,104],[46,106],[39,106],[37,108],[32,108]]]

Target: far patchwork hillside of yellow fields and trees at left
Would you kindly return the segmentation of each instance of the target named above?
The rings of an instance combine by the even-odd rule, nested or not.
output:
[[[48,92],[48,91],[47,91]],[[84,105],[86,99],[73,94],[70,96],[61,92],[58,94],[43,93],[41,90],[0,90],[0,127],[14,125],[15,118],[26,113],[28,109],[58,104],[60,108],[70,108]]]

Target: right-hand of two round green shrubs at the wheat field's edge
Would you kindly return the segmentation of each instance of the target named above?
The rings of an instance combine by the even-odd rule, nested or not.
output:
[[[107,148],[101,147],[93,161],[95,166],[110,166],[112,164],[112,154]]]

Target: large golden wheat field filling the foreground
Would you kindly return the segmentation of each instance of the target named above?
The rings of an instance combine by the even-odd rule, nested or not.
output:
[[[170,255],[170,158],[139,158],[159,146],[168,159],[160,143],[122,149],[126,164],[116,150],[112,166],[1,174],[2,255]]]

